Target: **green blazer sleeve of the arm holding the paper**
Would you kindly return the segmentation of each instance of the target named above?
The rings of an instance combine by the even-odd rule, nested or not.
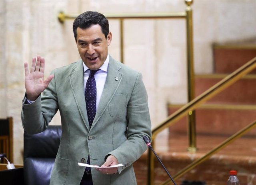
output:
[[[121,173],[123,169],[136,161],[147,149],[143,136],[151,140],[151,122],[148,109],[148,96],[142,82],[142,75],[138,73],[130,100],[127,105],[127,140],[116,150],[108,155],[114,155],[118,163],[124,166],[118,168]],[[106,155],[106,157],[108,156]],[[105,159],[106,159],[105,157]]]

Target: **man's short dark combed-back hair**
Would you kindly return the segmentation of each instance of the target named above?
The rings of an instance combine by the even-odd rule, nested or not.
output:
[[[107,38],[108,33],[109,33],[109,24],[107,18],[98,12],[84,12],[80,14],[73,23],[73,32],[74,32],[74,37],[76,39],[77,36],[77,28],[81,29],[86,29],[90,28],[92,25],[99,24],[102,30],[102,33],[105,35]]]

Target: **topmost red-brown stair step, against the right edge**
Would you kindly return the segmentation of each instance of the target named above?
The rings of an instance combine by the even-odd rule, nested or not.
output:
[[[224,43],[213,46],[214,73],[232,73],[256,57],[256,41]],[[256,74],[256,69],[251,73]]]

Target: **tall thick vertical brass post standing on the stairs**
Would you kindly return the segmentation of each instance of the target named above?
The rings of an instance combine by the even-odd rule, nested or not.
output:
[[[193,0],[185,0],[186,8],[186,31],[187,31],[187,72],[188,72],[188,102],[195,98],[194,95],[194,55],[193,55],[193,24],[192,9]],[[196,151],[196,115],[195,111],[188,112],[188,151]]]

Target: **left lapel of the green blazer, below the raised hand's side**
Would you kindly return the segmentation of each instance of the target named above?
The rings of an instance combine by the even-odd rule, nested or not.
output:
[[[84,67],[83,61],[78,61],[77,65],[73,68],[73,72],[70,73],[70,85],[72,88],[72,93],[74,95],[76,104],[78,106],[78,110],[82,116],[82,120],[86,125],[87,129],[90,130],[87,112],[86,112],[86,104],[84,98]]]

